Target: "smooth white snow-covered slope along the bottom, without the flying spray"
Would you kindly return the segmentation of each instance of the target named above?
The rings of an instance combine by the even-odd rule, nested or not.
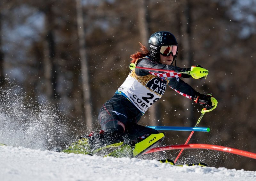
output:
[[[256,171],[172,166],[157,160],[76,155],[0,146],[2,181],[256,180]]]

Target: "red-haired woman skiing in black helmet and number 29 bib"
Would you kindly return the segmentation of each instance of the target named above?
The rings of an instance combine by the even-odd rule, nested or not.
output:
[[[174,35],[161,31],[150,36],[148,49],[141,45],[140,51],[130,57],[132,63],[142,68],[191,71],[195,67],[201,67],[199,65],[191,68],[173,66],[177,54],[178,43]],[[133,69],[114,96],[100,109],[100,133],[83,136],[63,151],[135,157],[157,146],[163,141],[164,133],[137,123],[148,108],[163,96],[167,85],[208,111],[216,107],[211,100],[211,95],[200,94],[180,79],[191,77],[189,74]],[[114,147],[117,149],[113,150]]]

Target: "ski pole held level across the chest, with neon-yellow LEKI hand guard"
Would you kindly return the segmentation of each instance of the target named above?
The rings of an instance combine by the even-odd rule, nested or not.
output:
[[[199,79],[202,77],[205,77],[208,75],[208,70],[202,68],[202,67],[191,67],[191,71],[178,71],[178,70],[165,70],[165,69],[154,69],[154,68],[147,68],[147,67],[138,67],[135,65],[135,63],[131,63],[129,65],[129,68],[131,70],[137,68],[137,69],[145,69],[145,70],[155,70],[155,71],[162,71],[162,72],[171,72],[171,73],[180,73],[180,74],[189,74],[195,79]]]

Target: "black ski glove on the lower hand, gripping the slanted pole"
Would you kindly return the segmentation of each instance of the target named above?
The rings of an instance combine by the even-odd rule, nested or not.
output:
[[[214,97],[212,97],[211,94],[198,94],[195,96],[194,101],[196,102],[196,104],[202,105],[204,108],[206,108],[208,112],[215,109],[218,103],[217,100]]]

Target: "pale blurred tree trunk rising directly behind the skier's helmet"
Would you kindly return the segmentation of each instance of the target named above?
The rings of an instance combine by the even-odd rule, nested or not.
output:
[[[140,40],[141,43],[147,47],[148,45],[148,38],[149,38],[149,20],[148,20],[148,7],[147,7],[147,0],[139,0],[138,1],[138,21],[139,21],[139,31],[140,31]],[[150,125],[157,126],[158,121],[157,121],[157,110],[156,110],[156,105],[152,105],[148,109],[149,113],[149,119],[147,123]]]

